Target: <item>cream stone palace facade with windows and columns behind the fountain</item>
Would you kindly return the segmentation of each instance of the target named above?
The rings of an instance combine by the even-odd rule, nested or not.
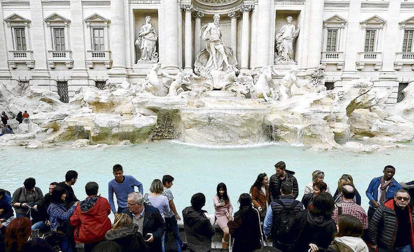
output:
[[[205,48],[202,27],[215,14],[241,73],[273,65],[304,78],[322,65],[328,89],[366,78],[392,88],[389,106],[414,81],[414,0],[0,2],[0,81],[57,91],[64,100],[83,86],[142,82],[155,62],[170,74],[193,74]],[[293,59],[280,61],[277,37],[287,20]]]

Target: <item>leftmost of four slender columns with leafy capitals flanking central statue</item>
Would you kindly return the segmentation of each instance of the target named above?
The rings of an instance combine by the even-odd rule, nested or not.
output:
[[[191,25],[191,11],[193,5],[181,5],[181,10],[185,12],[185,38],[184,38],[184,56],[185,67],[184,72],[192,74],[192,25]]]

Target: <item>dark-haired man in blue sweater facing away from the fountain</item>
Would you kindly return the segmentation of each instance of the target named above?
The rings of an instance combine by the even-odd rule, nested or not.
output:
[[[141,195],[143,195],[144,189],[142,183],[136,180],[136,178],[124,175],[122,165],[116,164],[112,170],[115,178],[108,183],[108,201],[111,205],[111,211],[116,216],[127,208],[128,194],[135,192],[135,186],[138,187],[138,191]],[[117,197],[118,211],[115,209],[114,193]]]

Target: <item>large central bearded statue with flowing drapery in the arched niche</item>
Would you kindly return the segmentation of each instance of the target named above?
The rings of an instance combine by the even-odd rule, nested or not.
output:
[[[226,71],[229,66],[237,66],[232,49],[227,48],[222,40],[220,15],[214,15],[213,20],[213,23],[201,28],[200,37],[206,41],[205,48],[198,53],[194,62],[195,71],[204,76],[211,71]]]

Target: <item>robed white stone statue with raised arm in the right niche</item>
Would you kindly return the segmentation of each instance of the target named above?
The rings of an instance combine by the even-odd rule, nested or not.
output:
[[[276,34],[276,51],[277,51],[277,59],[275,61],[295,61],[294,60],[294,48],[293,42],[297,35],[299,35],[299,24],[297,25],[297,29],[295,29],[295,25],[292,24],[292,17],[287,17],[287,24],[283,25],[282,28]]]

